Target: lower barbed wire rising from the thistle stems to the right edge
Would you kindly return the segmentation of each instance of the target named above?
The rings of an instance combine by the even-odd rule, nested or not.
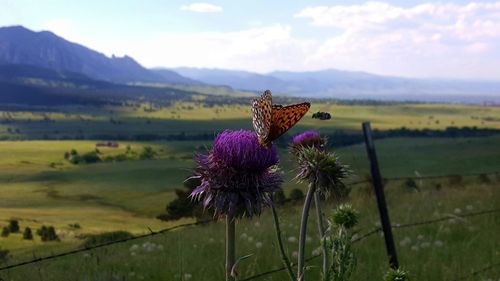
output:
[[[482,210],[482,211],[477,211],[477,212],[471,212],[471,213],[467,213],[467,214],[463,214],[463,215],[448,215],[448,216],[444,216],[444,217],[441,217],[441,218],[438,218],[438,219],[434,219],[434,220],[425,220],[425,221],[419,221],[419,222],[413,222],[413,223],[407,223],[407,224],[399,224],[399,225],[393,225],[392,227],[393,228],[416,227],[416,226],[422,226],[422,225],[427,225],[427,224],[433,224],[433,223],[437,223],[437,222],[449,220],[449,219],[456,218],[456,217],[465,218],[465,217],[481,216],[481,215],[491,214],[491,213],[495,213],[495,212],[500,212],[500,208],[499,209],[490,209],[490,210]],[[352,243],[360,242],[360,241],[362,241],[362,240],[364,240],[364,239],[366,239],[366,238],[368,238],[370,236],[373,236],[373,235],[379,233],[380,231],[382,231],[381,227],[375,227],[374,229],[368,231],[367,233],[365,233],[365,234],[363,234],[363,235],[361,235],[361,236],[359,236],[357,238],[352,239]],[[316,259],[316,258],[318,258],[320,256],[321,256],[321,254],[312,255],[309,258],[307,258],[306,261],[311,261],[311,260]],[[297,265],[296,263],[292,263],[292,267],[296,266],[296,265]],[[487,268],[489,269],[490,267],[487,267]],[[493,266],[491,266],[491,268],[493,268]],[[260,277],[263,277],[263,276],[266,276],[266,275],[278,273],[278,272],[284,271],[284,270],[286,270],[286,267],[272,269],[272,270],[269,270],[269,271],[265,271],[265,272],[261,272],[261,273],[252,275],[252,276],[247,277],[245,279],[242,279],[240,281],[254,280],[254,279],[257,279],[257,278],[260,278]],[[485,270],[487,270],[487,269],[483,269],[483,271],[485,271]],[[475,273],[475,274],[478,274],[478,273]],[[468,278],[468,277],[469,276],[467,276],[466,278]],[[463,279],[458,279],[458,280],[463,280]]]

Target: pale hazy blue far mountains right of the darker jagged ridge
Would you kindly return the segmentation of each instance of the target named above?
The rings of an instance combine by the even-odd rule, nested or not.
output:
[[[268,74],[204,68],[174,70],[207,84],[259,92],[271,89],[293,96],[452,102],[500,100],[500,82],[410,79],[335,69]]]

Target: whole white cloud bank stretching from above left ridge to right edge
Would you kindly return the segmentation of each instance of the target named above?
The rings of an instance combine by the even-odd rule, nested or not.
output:
[[[500,80],[500,2],[387,3],[310,7],[296,14],[309,23],[299,37],[292,25],[257,25],[231,32],[149,34],[95,38],[71,23],[47,23],[57,33],[108,55],[128,54],[148,67],[192,66],[307,71],[325,68],[411,76]],[[307,30],[307,29],[306,29]],[[327,31],[327,32],[325,32]],[[88,40],[78,40],[76,36]]]

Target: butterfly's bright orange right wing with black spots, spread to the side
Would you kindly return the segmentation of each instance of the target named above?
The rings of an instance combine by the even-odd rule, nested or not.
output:
[[[265,142],[270,143],[290,130],[307,113],[310,107],[311,104],[308,102],[288,106],[273,105],[271,128]]]

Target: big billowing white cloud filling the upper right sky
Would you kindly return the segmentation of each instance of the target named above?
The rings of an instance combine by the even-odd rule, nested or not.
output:
[[[316,67],[405,76],[500,79],[500,2],[382,2],[299,11],[311,28],[341,34],[324,40],[307,61]]]

